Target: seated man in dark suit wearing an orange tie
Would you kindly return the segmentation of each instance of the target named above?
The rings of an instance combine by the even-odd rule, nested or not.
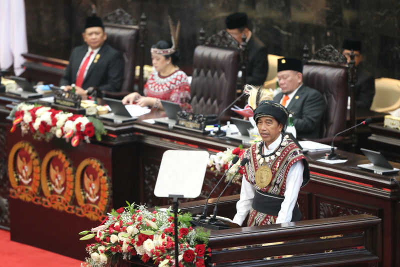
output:
[[[321,119],[325,110],[322,95],[302,82],[302,62],[295,58],[278,59],[279,87],[273,100],[293,112],[293,125],[299,138],[319,138]]]

